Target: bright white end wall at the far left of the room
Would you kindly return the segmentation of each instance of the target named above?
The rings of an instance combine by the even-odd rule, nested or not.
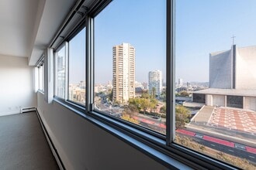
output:
[[[0,55],[0,116],[36,107],[33,67],[27,63],[26,57]]]

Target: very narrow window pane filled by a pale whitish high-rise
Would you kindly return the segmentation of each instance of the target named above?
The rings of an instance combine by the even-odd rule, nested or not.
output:
[[[66,58],[65,46],[56,53],[56,87],[55,95],[65,98],[65,81],[66,81]]]

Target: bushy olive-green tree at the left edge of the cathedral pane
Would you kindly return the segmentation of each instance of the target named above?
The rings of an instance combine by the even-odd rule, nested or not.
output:
[[[186,121],[189,119],[189,110],[183,106],[175,107],[175,126],[184,128]]]

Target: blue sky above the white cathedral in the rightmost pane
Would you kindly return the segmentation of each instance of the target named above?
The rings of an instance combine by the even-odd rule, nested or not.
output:
[[[210,2],[210,3],[209,3]],[[209,53],[256,45],[256,1],[177,0],[176,80],[209,81]]]

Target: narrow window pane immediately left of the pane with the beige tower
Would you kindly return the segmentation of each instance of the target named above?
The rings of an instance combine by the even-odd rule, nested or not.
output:
[[[85,105],[85,29],[69,42],[68,99]]]

